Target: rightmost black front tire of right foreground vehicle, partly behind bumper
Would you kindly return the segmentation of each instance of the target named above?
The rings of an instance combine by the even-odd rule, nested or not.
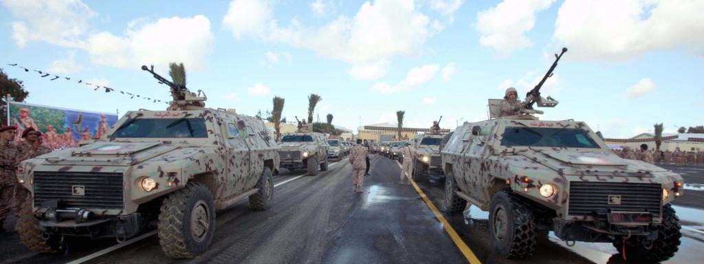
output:
[[[645,237],[631,237],[626,241],[626,260],[657,263],[668,260],[679,250],[680,232],[679,218],[669,204],[662,207],[662,223],[658,227],[658,239],[652,246],[644,245]],[[619,253],[623,254],[623,238],[617,237],[613,243]]]

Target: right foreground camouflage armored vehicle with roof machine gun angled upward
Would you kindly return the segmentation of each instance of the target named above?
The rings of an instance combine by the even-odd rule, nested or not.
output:
[[[441,152],[441,208],[459,213],[472,204],[489,211],[494,247],[508,258],[531,256],[537,237],[549,231],[568,245],[611,242],[627,260],[674,256],[681,233],[670,203],[683,193],[682,177],[616,156],[584,122],[527,114],[540,113],[530,101],[558,103],[536,95],[539,88],[529,92],[521,114],[498,117],[497,101],[490,100],[490,120],[455,130]]]

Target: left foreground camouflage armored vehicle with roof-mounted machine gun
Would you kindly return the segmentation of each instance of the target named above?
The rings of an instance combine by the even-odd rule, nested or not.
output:
[[[20,164],[32,199],[17,230],[29,249],[65,250],[65,237],[122,242],[156,227],[167,256],[193,258],[213,239],[215,210],[246,198],[270,207],[279,155],[264,123],[203,108],[205,97],[149,71],[177,93],[174,110],[129,111],[92,144]]]

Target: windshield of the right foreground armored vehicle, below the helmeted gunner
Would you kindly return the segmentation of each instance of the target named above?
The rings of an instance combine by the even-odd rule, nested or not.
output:
[[[543,127],[506,127],[501,146],[599,147],[584,130]]]

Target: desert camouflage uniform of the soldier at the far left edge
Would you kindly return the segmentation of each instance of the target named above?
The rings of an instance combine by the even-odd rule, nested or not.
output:
[[[19,163],[17,146],[9,143],[0,146],[0,225],[10,211],[12,196],[17,183],[17,164]]]

